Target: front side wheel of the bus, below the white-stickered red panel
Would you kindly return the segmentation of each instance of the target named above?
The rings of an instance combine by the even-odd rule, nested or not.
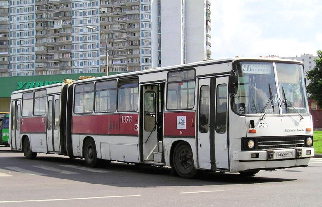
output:
[[[194,156],[187,143],[181,143],[175,147],[173,164],[180,177],[192,178],[197,173],[197,169],[194,168]]]

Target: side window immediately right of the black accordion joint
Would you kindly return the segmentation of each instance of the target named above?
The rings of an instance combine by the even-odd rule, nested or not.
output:
[[[74,113],[92,113],[94,108],[94,83],[75,86]]]

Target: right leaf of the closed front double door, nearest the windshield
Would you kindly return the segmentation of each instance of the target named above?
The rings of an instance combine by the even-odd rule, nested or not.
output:
[[[228,77],[215,79],[214,147],[217,169],[229,169],[228,149]]]

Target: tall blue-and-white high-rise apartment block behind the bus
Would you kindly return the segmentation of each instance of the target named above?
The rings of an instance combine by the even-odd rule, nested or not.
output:
[[[105,72],[105,52],[110,72],[201,61],[210,22],[209,0],[0,0],[0,75]]]

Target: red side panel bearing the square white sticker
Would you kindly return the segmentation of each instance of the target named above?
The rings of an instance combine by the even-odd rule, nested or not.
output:
[[[195,136],[195,112],[164,114],[164,136]]]

